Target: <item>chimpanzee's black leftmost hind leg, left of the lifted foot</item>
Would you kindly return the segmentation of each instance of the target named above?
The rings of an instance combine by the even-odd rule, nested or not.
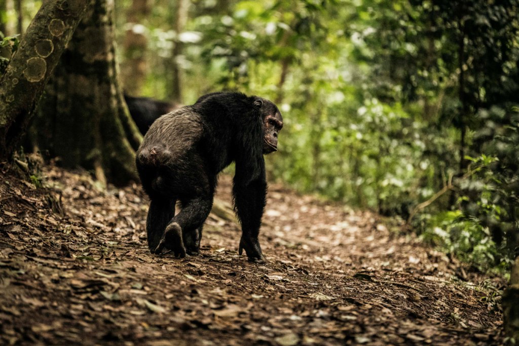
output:
[[[149,204],[146,231],[148,247],[152,252],[157,248],[166,226],[175,215],[175,203],[174,199],[155,197]]]

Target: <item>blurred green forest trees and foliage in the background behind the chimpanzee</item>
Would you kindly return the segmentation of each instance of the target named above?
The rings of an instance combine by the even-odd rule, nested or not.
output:
[[[122,86],[102,95],[274,100],[285,127],[271,179],[408,220],[481,269],[508,268],[519,245],[518,3],[117,0]],[[0,30],[23,31],[39,5],[0,1]]]

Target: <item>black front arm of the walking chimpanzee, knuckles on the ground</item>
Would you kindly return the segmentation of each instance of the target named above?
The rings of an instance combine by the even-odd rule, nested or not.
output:
[[[257,151],[257,150],[254,150]],[[261,219],[265,209],[267,182],[265,160],[260,151],[239,155],[236,158],[234,176],[234,203],[241,222],[241,240],[239,253],[245,249],[250,261],[263,262],[264,257],[258,242]]]

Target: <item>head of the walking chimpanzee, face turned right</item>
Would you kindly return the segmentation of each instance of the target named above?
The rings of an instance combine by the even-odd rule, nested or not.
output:
[[[278,150],[278,133],[283,128],[283,117],[276,105],[266,99],[256,98],[254,105],[260,109],[263,117],[263,154]]]

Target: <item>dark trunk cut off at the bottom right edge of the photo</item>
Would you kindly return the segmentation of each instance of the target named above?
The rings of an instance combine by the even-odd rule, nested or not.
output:
[[[510,285],[503,293],[504,330],[509,337],[519,340],[519,257],[515,259]]]

